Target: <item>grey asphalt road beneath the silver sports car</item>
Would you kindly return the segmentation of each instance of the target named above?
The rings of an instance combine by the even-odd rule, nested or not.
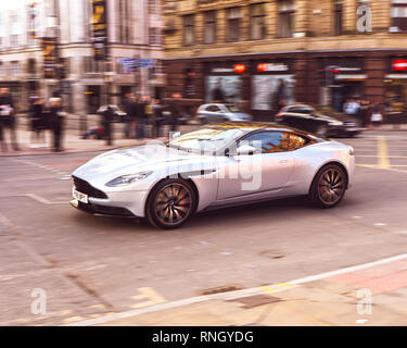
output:
[[[69,174],[97,153],[1,158],[0,325],[72,323],[406,252],[407,133],[342,141],[358,166],[338,208],[284,199],[202,213],[169,232],[69,207]],[[33,314],[38,294],[46,314]]]

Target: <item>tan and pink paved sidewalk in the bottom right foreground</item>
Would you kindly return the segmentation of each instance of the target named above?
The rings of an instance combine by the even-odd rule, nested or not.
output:
[[[76,325],[407,325],[407,254],[372,264],[249,291],[192,298],[183,306],[166,302],[156,306],[156,310],[147,308]]]

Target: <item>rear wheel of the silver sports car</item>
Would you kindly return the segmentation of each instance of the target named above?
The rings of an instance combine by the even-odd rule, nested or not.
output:
[[[347,178],[342,167],[328,164],[314,178],[310,188],[311,201],[320,208],[333,208],[345,196]]]

